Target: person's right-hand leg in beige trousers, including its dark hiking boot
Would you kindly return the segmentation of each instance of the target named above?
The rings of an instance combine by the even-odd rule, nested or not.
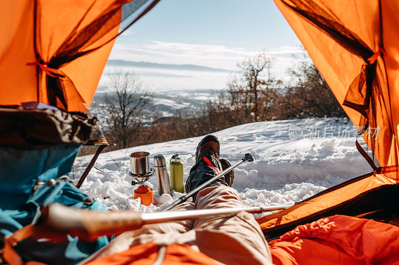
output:
[[[208,135],[202,139],[197,147],[197,164],[191,169],[186,182],[187,192],[230,166],[227,160],[220,163],[219,148],[215,136]],[[197,209],[243,207],[238,192],[230,187],[233,177],[231,172],[228,177],[217,179],[199,191],[194,197]],[[193,241],[186,242],[187,244],[197,246],[205,255],[225,264],[271,264],[272,262],[267,241],[259,224],[253,215],[247,212],[240,212],[229,218],[196,220],[193,231],[186,234],[190,234],[193,238]]]

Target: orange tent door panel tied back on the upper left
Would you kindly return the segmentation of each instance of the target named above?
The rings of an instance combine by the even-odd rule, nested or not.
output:
[[[130,16],[147,1],[1,1],[0,105],[38,101],[86,112],[115,37],[159,0]],[[124,19],[134,20],[119,31]]]

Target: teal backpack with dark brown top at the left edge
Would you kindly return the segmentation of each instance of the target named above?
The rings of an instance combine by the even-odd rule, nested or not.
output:
[[[61,110],[0,108],[0,249],[6,237],[38,220],[40,207],[57,202],[107,210],[68,177],[94,122]],[[62,242],[27,237],[12,250],[23,263],[63,265],[76,264],[106,244],[106,237],[94,242],[69,235]]]

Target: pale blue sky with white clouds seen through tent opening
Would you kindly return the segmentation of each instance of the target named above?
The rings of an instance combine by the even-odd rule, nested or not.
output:
[[[273,74],[284,78],[291,54],[302,52],[299,46],[272,0],[161,0],[117,38],[110,59],[237,70],[237,62],[265,51],[275,58]],[[156,73],[142,73],[154,88],[163,88],[165,82],[168,89],[188,84],[184,79],[156,79]],[[186,74],[195,82],[192,88],[222,88],[228,79]]]

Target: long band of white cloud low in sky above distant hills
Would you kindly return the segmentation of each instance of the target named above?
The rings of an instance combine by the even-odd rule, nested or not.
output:
[[[236,70],[236,64],[259,52],[239,47],[201,45],[178,42],[151,41],[147,43],[114,45],[110,59],[144,61],[162,64],[195,64],[212,68]],[[281,46],[265,48],[264,52],[274,57],[274,72],[284,75],[291,66],[291,54],[303,53],[300,47]]]

